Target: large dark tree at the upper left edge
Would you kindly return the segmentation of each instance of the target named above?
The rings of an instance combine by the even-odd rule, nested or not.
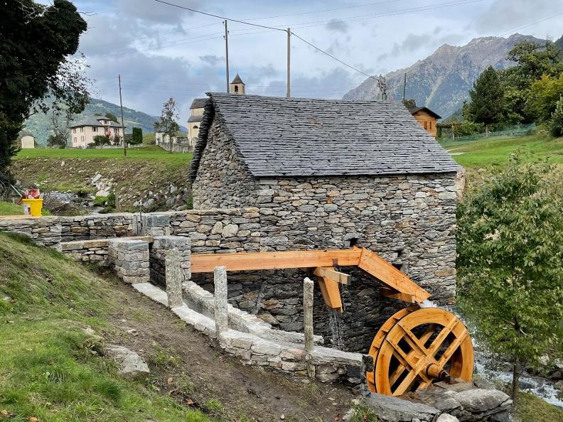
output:
[[[68,104],[74,113],[87,104],[82,65],[69,58],[87,24],[66,0],[50,6],[10,1],[1,9],[0,174],[9,178],[7,167],[16,152],[12,142],[26,118],[46,112],[50,98],[55,107]]]

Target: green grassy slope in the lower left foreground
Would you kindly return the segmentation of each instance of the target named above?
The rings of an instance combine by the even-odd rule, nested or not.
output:
[[[114,330],[112,283],[0,234],[0,411],[9,421],[210,421],[121,379],[82,327]],[[2,413],[0,413],[0,418]]]

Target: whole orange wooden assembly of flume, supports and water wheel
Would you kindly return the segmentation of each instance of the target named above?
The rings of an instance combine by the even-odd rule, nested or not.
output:
[[[350,276],[337,267],[358,266],[385,285],[383,296],[417,303],[392,315],[375,335],[369,350],[375,364],[366,372],[370,390],[400,396],[437,381],[471,380],[473,345],[465,325],[446,310],[419,306],[430,293],[368,249],[191,255],[192,273],[212,272],[215,266],[227,271],[309,269],[328,308],[339,312],[338,285],[350,284]]]

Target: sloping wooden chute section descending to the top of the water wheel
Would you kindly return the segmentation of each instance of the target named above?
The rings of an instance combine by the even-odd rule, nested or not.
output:
[[[368,249],[362,249],[358,266],[386,286],[412,296],[416,302],[422,302],[431,296],[424,288],[418,286],[417,283],[414,283],[409,277],[385,261],[385,259],[382,259],[381,256],[368,251]]]

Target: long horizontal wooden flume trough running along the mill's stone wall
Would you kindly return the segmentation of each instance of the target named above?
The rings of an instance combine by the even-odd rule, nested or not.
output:
[[[361,250],[237,252],[233,254],[192,254],[191,272],[210,273],[215,266],[227,271],[259,269],[312,268],[316,266],[356,266]]]

